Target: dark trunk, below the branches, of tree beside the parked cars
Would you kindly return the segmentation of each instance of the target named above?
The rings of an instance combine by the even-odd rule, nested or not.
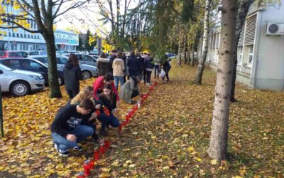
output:
[[[52,23],[51,23],[52,24]],[[48,85],[50,98],[62,98],[60,86],[58,83],[58,67],[56,62],[55,38],[53,26],[48,25],[47,32],[43,35],[45,38],[48,55]]]

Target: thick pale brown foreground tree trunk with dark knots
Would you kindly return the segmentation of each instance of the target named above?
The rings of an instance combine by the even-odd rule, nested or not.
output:
[[[236,15],[237,0],[222,1],[222,38],[219,49],[212,132],[207,150],[209,157],[217,160],[226,159],[227,153]]]

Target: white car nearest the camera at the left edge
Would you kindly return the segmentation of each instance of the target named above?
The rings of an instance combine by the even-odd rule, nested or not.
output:
[[[0,64],[1,92],[10,92],[13,96],[27,95],[31,91],[43,90],[43,75],[25,70],[12,69]]]

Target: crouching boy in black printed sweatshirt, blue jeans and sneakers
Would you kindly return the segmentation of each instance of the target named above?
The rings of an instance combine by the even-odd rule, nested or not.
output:
[[[65,105],[60,108],[50,127],[54,147],[59,155],[67,157],[71,148],[82,151],[82,147],[77,144],[94,133],[91,123],[88,122],[92,110],[94,103],[87,98],[79,105]]]

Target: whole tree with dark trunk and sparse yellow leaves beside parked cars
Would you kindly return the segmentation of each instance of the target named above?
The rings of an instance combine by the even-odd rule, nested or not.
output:
[[[58,83],[58,73],[56,66],[55,36],[53,25],[58,16],[65,14],[71,9],[83,6],[90,0],[14,0],[2,1],[4,6],[0,7],[0,27],[1,28],[23,28],[31,33],[40,33],[45,39],[48,54],[48,85],[50,88],[50,98],[61,98],[62,94]],[[4,9],[5,6],[17,7],[21,11],[11,13]],[[62,9],[67,6],[66,9]],[[34,21],[36,30],[31,30],[27,21]]]

